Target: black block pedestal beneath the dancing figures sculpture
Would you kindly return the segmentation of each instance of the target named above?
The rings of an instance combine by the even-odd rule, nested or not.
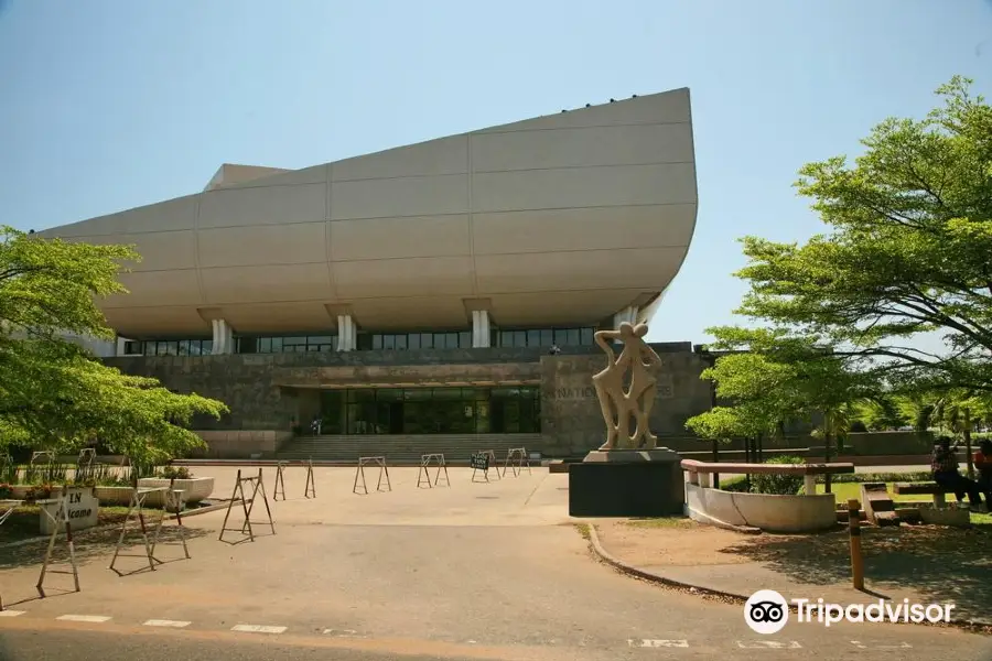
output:
[[[569,516],[668,517],[684,503],[681,457],[667,447],[593,451],[569,465]]]

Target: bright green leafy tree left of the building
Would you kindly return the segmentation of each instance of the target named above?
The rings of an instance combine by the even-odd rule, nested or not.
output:
[[[134,462],[171,458],[203,441],[183,425],[227,408],[122,375],[64,339],[112,338],[95,297],[126,293],[125,246],[42,239],[0,228],[0,447],[72,451],[94,441]]]

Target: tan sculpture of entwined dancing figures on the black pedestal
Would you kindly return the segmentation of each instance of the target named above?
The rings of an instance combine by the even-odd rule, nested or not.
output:
[[[651,407],[657,393],[657,379],[651,376],[649,367],[660,365],[661,359],[651,347],[644,342],[647,325],[636,326],[624,322],[616,330],[600,330],[595,335],[610,359],[606,369],[593,377],[596,397],[606,421],[606,443],[600,446],[606,449],[654,449],[658,437],[651,434],[649,420]],[[617,358],[608,340],[619,339],[624,348]],[[624,389],[624,376],[630,369],[630,386]],[[630,433],[630,418],[636,427]]]

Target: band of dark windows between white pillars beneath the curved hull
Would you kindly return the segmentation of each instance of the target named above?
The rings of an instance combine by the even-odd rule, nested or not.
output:
[[[493,346],[550,347],[583,346],[593,343],[593,328],[531,328],[498,330]],[[211,353],[209,339],[136,340],[125,343],[125,354],[143,356],[205,356]],[[472,347],[467,330],[444,333],[360,333],[356,347],[362,350],[466,349]],[[238,354],[293,354],[334,351],[336,335],[292,335],[282,337],[240,336],[235,338]]]

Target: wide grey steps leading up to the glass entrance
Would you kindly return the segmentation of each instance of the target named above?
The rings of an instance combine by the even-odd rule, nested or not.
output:
[[[529,454],[542,446],[540,434],[321,435],[294,438],[276,456],[287,460],[312,458],[354,464],[358,457],[385,455],[392,465],[416,465],[420,463],[420,455],[443,453],[449,464],[466,464],[468,455],[482,449],[492,449],[503,460],[511,447],[526,447]]]

